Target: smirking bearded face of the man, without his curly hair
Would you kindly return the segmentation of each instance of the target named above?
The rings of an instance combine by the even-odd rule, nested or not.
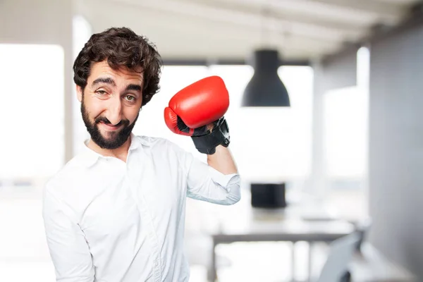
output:
[[[102,149],[121,147],[133,130],[142,103],[142,73],[113,70],[106,61],[92,64],[87,86],[77,86],[82,119]]]

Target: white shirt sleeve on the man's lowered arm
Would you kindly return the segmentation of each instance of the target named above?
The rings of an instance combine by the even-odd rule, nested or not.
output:
[[[57,282],[93,282],[94,266],[85,236],[64,212],[63,204],[44,191],[43,219]]]

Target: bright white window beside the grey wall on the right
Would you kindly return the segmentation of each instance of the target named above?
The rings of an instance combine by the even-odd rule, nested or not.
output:
[[[357,52],[357,85],[324,96],[324,150],[331,180],[367,177],[369,50]]]

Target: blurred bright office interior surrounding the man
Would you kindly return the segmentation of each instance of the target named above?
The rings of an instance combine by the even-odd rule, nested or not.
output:
[[[164,59],[135,134],[205,161],[163,109],[208,75],[230,93],[243,199],[188,200],[191,281],[423,281],[421,1],[0,0],[1,282],[54,281],[42,190],[89,137],[73,60],[112,26],[147,36]],[[278,51],[290,106],[242,106],[257,49]],[[257,183],[275,184],[286,207],[252,207]]]

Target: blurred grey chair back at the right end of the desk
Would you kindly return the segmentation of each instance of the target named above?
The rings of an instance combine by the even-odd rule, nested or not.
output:
[[[357,232],[333,241],[317,282],[342,281],[359,241],[360,234]]]

